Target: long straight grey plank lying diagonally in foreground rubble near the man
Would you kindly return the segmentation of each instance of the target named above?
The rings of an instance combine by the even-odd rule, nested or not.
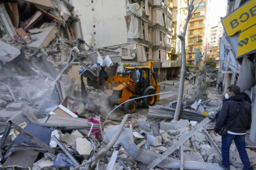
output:
[[[204,120],[202,120],[193,129],[191,129],[191,131],[189,131],[187,134],[180,137],[180,139],[177,140],[176,143],[174,143],[172,146],[167,148],[167,150],[165,152],[163,152],[163,154],[160,157],[158,157],[154,161],[152,161],[152,163],[150,163],[147,166],[147,169],[152,169],[155,166],[157,166],[161,161],[163,161],[166,157],[168,157],[170,154],[172,154],[172,152],[174,152],[177,148],[179,148],[180,145],[185,143],[185,141],[187,141],[191,136],[193,136],[194,133],[196,133],[201,127],[204,127],[209,122],[210,122],[210,119],[208,119],[208,118],[205,118]]]

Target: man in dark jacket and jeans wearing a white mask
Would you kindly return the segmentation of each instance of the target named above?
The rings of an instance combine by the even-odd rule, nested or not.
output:
[[[218,132],[223,126],[230,126],[227,136],[222,137],[222,168],[229,169],[229,149],[234,140],[244,170],[251,170],[245,144],[246,131],[250,129],[252,122],[251,104],[240,97],[240,87],[236,85],[227,87],[226,99],[215,124],[215,132]]]

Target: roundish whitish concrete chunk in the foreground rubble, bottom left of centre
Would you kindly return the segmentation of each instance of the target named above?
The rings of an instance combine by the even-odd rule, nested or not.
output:
[[[79,155],[88,156],[91,154],[91,151],[93,151],[93,146],[86,138],[77,138],[76,151],[79,153]]]

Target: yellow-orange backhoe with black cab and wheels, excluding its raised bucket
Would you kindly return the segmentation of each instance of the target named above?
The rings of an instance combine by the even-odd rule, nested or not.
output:
[[[160,86],[154,77],[153,62],[149,61],[147,66],[126,67],[123,73],[116,73],[115,77],[108,78],[107,81],[115,82],[117,86],[113,89],[113,94],[108,98],[112,106],[124,103],[125,101],[146,95],[158,94]],[[138,103],[144,107],[153,106],[159,100],[159,95],[140,98],[128,101],[123,104],[124,112],[135,112]]]

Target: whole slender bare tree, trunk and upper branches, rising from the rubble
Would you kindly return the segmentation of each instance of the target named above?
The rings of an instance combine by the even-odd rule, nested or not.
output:
[[[188,16],[183,28],[183,32],[181,32],[180,35],[178,35],[178,38],[180,39],[181,42],[181,51],[182,51],[182,68],[180,72],[180,85],[179,85],[179,94],[178,94],[178,101],[177,101],[177,106],[174,114],[174,120],[179,120],[180,117],[180,109],[182,106],[182,99],[183,99],[183,90],[184,90],[184,81],[185,81],[185,73],[186,73],[186,47],[185,47],[185,36],[187,32],[187,27],[188,27],[188,21],[190,21],[191,15],[193,15],[193,10],[194,10],[194,5],[193,5],[194,0],[191,2],[187,0],[188,4]],[[201,0],[202,2],[202,0]],[[200,4],[201,4],[200,2]],[[199,4],[199,5],[200,5]],[[199,7],[197,6],[197,8]],[[197,8],[194,10],[194,12],[197,10]]]

